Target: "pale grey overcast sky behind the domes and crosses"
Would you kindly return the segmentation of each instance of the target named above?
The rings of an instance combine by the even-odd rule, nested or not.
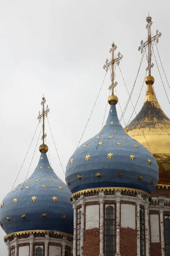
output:
[[[156,29],[162,33],[158,49],[167,79],[170,80],[169,10],[168,0],[0,0],[0,202],[11,190],[31,143],[37,127],[37,115],[41,110],[42,94],[50,108],[48,119],[65,170],[69,157],[77,148],[104,79],[102,67],[106,58],[110,58],[109,49],[113,40],[118,46],[117,52],[123,55],[120,69],[131,91],[142,56],[138,47],[147,36],[145,26],[148,12],[153,20],[153,35]],[[157,61],[161,70],[158,57]],[[169,115],[170,106],[154,58],[153,63],[156,95],[163,111]],[[134,104],[142,87],[146,67],[144,57],[132,95]],[[170,96],[162,70],[161,74],[167,95]],[[118,68],[116,81],[123,110],[128,94]],[[107,74],[81,143],[100,131],[109,85],[110,75]],[[144,84],[137,112],[142,107],[145,91]],[[132,111],[133,107],[129,103],[125,122]],[[117,112],[120,117],[119,105]],[[123,122],[122,125],[125,126]],[[38,132],[40,129],[16,185],[25,180]],[[64,180],[48,123],[46,133],[52,167]],[[38,142],[40,144],[41,141]],[[29,176],[39,156],[37,148]],[[5,235],[0,230],[1,256],[7,256],[3,243]]]

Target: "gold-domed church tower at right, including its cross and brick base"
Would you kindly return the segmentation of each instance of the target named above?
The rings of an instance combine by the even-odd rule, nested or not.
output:
[[[142,143],[155,157],[159,166],[159,181],[152,192],[149,207],[150,255],[170,255],[170,119],[162,111],[153,90],[151,55],[153,42],[158,43],[161,33],[151,37],[151,17],[147,17],[148,39],[141,42],[139,50],[148,49],[148,73],[146,96],[141,111],[125,128],[127,134]],[[152,47],[152,48],[151,48]]]

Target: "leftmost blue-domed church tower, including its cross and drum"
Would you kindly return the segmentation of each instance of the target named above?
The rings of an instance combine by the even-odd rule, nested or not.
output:
[[[57,177],[45,145],[45,98],[42,97],[42,140],[39,162],[29,178],[11,190],[1,202],[0,225],[6,233],[8,256],[70,256],[73,209],[70,191]]]

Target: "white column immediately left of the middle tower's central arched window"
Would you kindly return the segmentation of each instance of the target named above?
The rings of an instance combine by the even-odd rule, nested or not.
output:
[[[104,221],[104,216],[103,216],[103,204],[104,204],[104,192],[101,191],[99,192],[99,203],[100,203],[100,254],[99,256],[104,256],[103,254],[103,221]]]

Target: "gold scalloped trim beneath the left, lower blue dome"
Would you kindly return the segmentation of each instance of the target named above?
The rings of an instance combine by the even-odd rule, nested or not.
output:
[[[11,236],[17,236],[17,235],[25,235],[25,234],[35,234],[35,233],[40,233],[40,234],[54,234],[54,235],[61,235],[61,236],[70,236],[73,237],[73,235],[68,234],[68,233],[64,233],[64,232],[60,232],[60,231],[51,231],[51,230],[25,230],[25,231],[19,231],[19,232],[14,232],[11,234],[8,234],[7,236],[4,237],[4,239],[7,239],[8,237]]]

